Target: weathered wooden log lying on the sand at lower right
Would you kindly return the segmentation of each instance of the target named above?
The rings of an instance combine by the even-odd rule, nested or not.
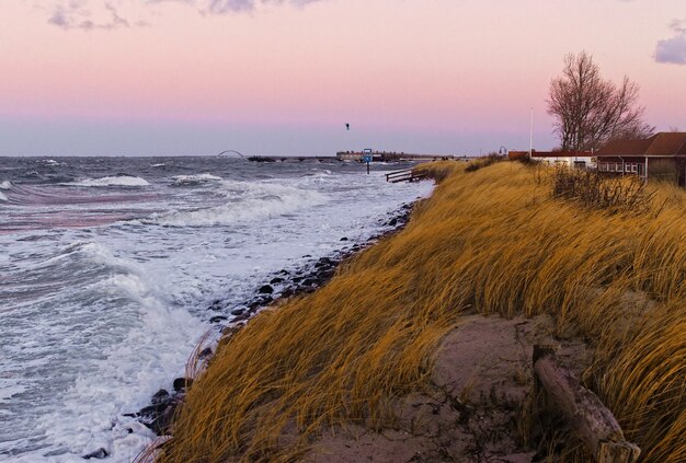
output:
[[[613,413],[560,363],[556,350],[534,347],[535,397],[544,398],[536,413],[561,417],[597,463],[636,462],[641,450],[626,441]]]

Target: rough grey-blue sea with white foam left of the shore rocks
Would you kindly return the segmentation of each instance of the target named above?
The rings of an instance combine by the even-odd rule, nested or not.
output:
[[[0,461],[134,461],[156,436],[125,414],[218,336],[208,306],[230,323],[274,275],[388,231],[432,192],[386,182],[411,165],[0,158]]]

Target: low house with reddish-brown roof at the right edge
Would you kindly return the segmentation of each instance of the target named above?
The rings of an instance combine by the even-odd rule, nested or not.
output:
[[[686,132],[659,132],[639,140],[615,140],[595,152],[598,172],[638,175],[686,185]]]

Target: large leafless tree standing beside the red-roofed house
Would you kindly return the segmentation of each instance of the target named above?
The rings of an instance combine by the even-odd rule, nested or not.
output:
[[[638,84],[627,77],[619,86],[604,80],[587,53],[567,55],[562,77],[550,82],[547,101],[562,150],[596,149],[613,139],[652,135],[654,127],[643,121],[638,95]]]

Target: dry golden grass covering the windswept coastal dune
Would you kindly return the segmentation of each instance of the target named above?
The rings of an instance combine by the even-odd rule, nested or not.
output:
[[[466,308],[550,313],[585,336],[586,382],[642,461],[685,460],[686,194],[609,215],[552,198],[541,167],[421,169],[443,181],[402,232],[221,343],[158,461],[294,461],[322,426],[382,427]]]

